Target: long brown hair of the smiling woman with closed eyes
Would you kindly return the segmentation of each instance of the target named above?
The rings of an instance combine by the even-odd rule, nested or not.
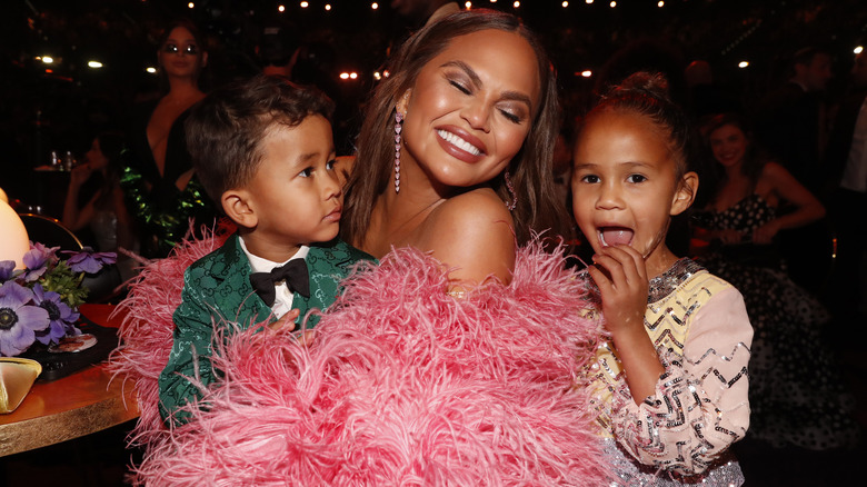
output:
[[[373,202],[389,187],[395,162],[395,107],[398,98],[412,88],[421,69],[442,52],[455,38],[495,29],[516,32],[536,52],[541,93],[524,147],[509,162],[517,206],[512,211],[519,244],[532,231],[551,229],[555,235],[570,232],[569,217],[554,189],[552,161],[557,140],[557,79],[548,56],[535,33],[508,13],[492,10],[468,10],[448,16],[416,32],[396,52],[390,76],[377,88],[370,100],[361,131],[352,175],[347,183],[341,235],[350,244],[363,241]],[[504,53],[502,62],[508,61]],[[511,201],[502,176],[490,181],[504,201]]]

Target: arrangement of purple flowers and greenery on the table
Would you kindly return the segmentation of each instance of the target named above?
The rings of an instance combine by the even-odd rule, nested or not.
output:
[[[24,269],[12,260],[0,261],[0,355],[20,355],[34,342],[49,346],[67,336],[81,335],[74,322],[88,289],[84,276],[114,264],[113,252],[62,251],[59,247],[30,242]]]

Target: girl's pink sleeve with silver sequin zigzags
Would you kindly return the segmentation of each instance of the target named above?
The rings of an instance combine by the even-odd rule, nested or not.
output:
[[[691,317],[684,355],[659,348],[666,371],[640,405],[625,381],[614,395],[617,440],[641,464],[685,475],[707,469],[749,427],[747,365],[753,327],[735,288]]]

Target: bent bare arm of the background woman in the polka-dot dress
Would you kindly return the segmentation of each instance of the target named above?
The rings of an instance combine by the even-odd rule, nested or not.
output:
[[[768,162],[761,171],[759,185],[767,188],[763,197],[773,192],[790,202],[797,210],[765,223],[753,232],[756,244],[770,244],[779,230],[803,227],[825,216],[825,207],[789,171],[776,162]],[[765,198],[767,200],[767,198]]]

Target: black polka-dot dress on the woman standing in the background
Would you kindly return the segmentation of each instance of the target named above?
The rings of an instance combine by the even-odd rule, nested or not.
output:
[[[699,215],[696,222],[715,230],[750,231],[775,216],[751,195],[725,211]],[[846,389],[839,357],[827,341],[839,336],[824,336],[831,317],[816,296],[791,280],[775,246],[721,246],[702,256],[701,264],[740,290],[755,329],[749,437],[776,448],[857,445],[855,397]]]

